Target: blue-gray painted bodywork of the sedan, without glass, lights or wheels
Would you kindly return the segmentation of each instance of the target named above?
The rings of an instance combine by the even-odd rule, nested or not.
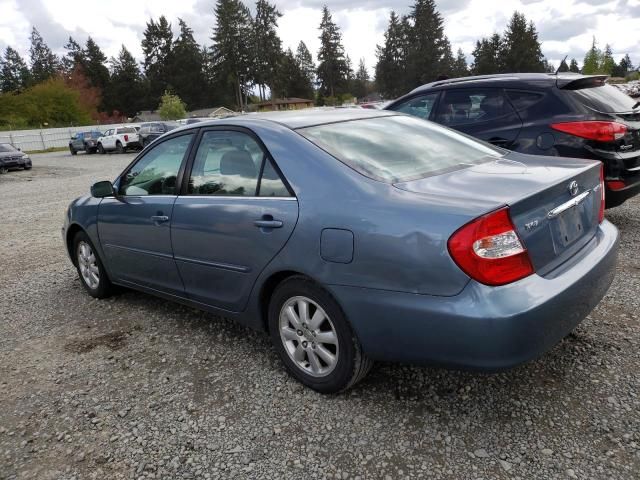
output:
[[[615,227],[587,218],[590,230],[565,251],[540,233],[546,224],[530,233],[522,228],[564,198],[566,179],[593,188],[596,163],[510,153],[499,164],[394,186],[360,175],[290,128],[372,115],[385,114],[246,116],[176,130],[158,142],[209,125],[248,129],[273,156],[295,198],[178,195],[100,203],[82,197],[72,203],[64,232],[71,225],[83,228],[116,283],[254,328],[264,327],[265,283],[283,271],[307,275],[336,297],[374,359],[507,366],[549,348],[597,304],[613,276]],[[554,182],[558,190],[544,193]],[[547,271],[544,278],[534,274],[487,287],[457,267],[447,240],[504,205],[511,206],[534,264]],[[171,220],[153,224],[149,218],[158,212]],[[258,228],[254,221],[263,215],[281,220],[282,228]],[[321,245],[327,229],[352,233],[350,263],[336,261],[348,256],[340,252],[348,244],[344,234]],[[331,251],[329,261],[323,246]]]

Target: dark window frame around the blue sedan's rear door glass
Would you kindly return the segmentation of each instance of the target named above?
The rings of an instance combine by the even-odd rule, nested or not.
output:
[[[197,123],[195,125],[197,125]],[[249,135],[249,137],[251,137],[264,152],[264,157],[262,159],[262,163],[260,164],[260,171],[258,173],[258,182],[256,184],[256,190],[253,196],[189,194],[189,178],[191,177],[191,172],[193,170],[193,165],[195,163],[195,157],[196,157],[196,154],[198,153],[198,149],[200,148],[200,144],[202,143],[202,138],[204,137],[205,133],[215,132],[215,131],[240,132],[240,133]],[[259,196],[260,184],[262,183],[262,173],[264,171],[265,161],[270,161],[274,170],[280,176],[280,180],[282,180],[282,183],[284,184],[285,188],[289,192],[288,197],[260,197]],[[198,196],[207,197],[207,198],[244,198],[244,199],[247,199],[247,198],[273,198],[273,199],[294,198],[296,199],[297,198],[295,192],[293,191],[293,188],[291,188],[291,185],[289,184],[289,181],[282,173],[282,170],[280,170],[280,167],[276,163],[275,159],[271,155],[271,152],[269,152],[269,149],[264,144],[262,139],[253,130],[246,127],[240,127],[238,125],[214,125],[214,126],[200,127],[198,129],[198,134],[191,145],[191,151],[189,152],[189,156],[187,158],[187,162],[184,169],[184,175],[182,177],[182,183],[180,185],[180,190],[178,195],[180,195],[181,197],[189,197],[189,198],[198,197]]]

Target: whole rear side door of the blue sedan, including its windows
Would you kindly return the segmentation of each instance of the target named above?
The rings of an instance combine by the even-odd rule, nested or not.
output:
[[[189,175],[171,224],[186,293],[242,311],[258,275],[291,236],[298,202],[245,131],[204,131]]]

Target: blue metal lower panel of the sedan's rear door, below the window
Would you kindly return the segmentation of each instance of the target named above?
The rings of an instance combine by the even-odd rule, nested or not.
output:
[[[188,296],[243,310],[256,278],[285,245],[297,219],[295,198],[178,197],[172,241]],[[282,226],[255,224],[261,220]]]

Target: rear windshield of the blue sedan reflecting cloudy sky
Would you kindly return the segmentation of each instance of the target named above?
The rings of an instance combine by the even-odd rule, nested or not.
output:
[[[299,129],[302,135],[357,172],[388,183],[485,163],[504,155],[448,128],[398,115]]]

